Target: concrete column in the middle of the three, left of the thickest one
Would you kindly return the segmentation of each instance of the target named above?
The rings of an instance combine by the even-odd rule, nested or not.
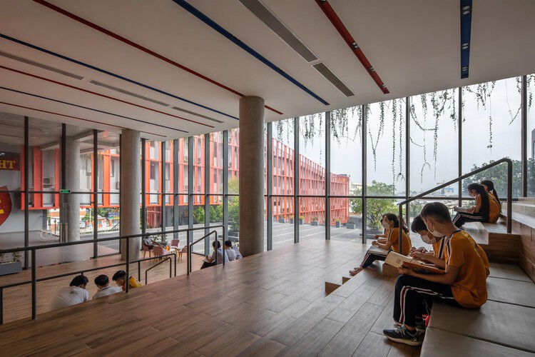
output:
[[[141,233],[139,228],[139,187],[141,180],[139,131],[124,129],[121,133],[121,236]],[[139,256],[141,238],[130,239],[130,258]],[[126,240],[121,242],[121,259],[126,260]]]

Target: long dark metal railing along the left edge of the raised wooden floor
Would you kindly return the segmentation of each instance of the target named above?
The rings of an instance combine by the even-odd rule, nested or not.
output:
[[[183,228],[183,229],[175,229],[173,231],[160,231],[160,232],[151,232],[151,233],[139,233],[139,234],[131,234],[129,236],[118,236],[118,237],[110,237],[110,238],[99,238],[99,239],[91,239],[91,240],[87,240],[87,241],[76,241],[76,242],[67,242],[67,243],[54,243],[54,244],[44,244],[44,245],[41,245],[41,246],[31,246],[31,247],[22,247],[22,248],[10,248],[10,249],[0,249],[0,254],[2,253],[13,253],[13,252],[16,252],[16,251],[31,251],[31,281],[29,283],[31,283],[31,319],[32,320],[36,320],[37,318],[37,272],[36,272],[36,252],[41,250],[41,249],[47,249],[47,248],[58,248],[58,247],[63,247],[63,246],[77,246],[78,244],[89,244],[89,243],[99,243],[99,242],[105,242],[105,241],[116,241],[116,240],[119,240],[119,241],[122,241],[124,239],[126,239],[126,263],[120,263],[118,265],[125,265],[126,264],[126,276],[130,276],[130,263],[133,262],[138,262],[137,260],[135,261],[130,261],[130,239],[131,238],[142,238],[142,237],[145,237],[145,236],[151,236],[153,235],[154,233],[158,233],[158,234],[168,234],[168,233],[181,233],[181,232],[190,232],[190,231],[198,231],[200,229],[206,229],[206,228],[219,228],[219,227],[222,227],[223,228],[223,237],[225,237],[225,226],[223,224],[221,225],[217,225],[217,226],[208,226],[208,227],[197,227],[197,228]],[[190,249],[188,249],[188,251],[190,251]],[[190,254],[188,254],[188,275],[189,275],[189,268],[191,266],[191,256]],[[151,258],[146,258],[146,259],[143,259],[143,260],[150,260]],[[176,256],[175,256],[175,259],[176,259]],[[224,263],[224,262],[223,262]],[[139,265],[139,263],[138,263]],[[112,266],[109,266],[109,267],[112,267]],[[87,269],[86,271],[91,271],[91,270],[99,270],[99,269],[103,269],[103,268],[108,268],[108,267],[98,267],[98,268],[92,268],[92,269]],[[175,271],[176,271],[176,266],[175,266]],[[139,271],[138,271],[139,273]],[[60,274],[58,276],[52,276],[52,277],[49,277],[48,279],[47,278],[39,278],[39,281],[42,281],[42,280],[49,280],[49,279],[52,279],[52,278],[61,278],[63,276],[68,276],[68,275],[73,275],[73,273],[68,273],[68,274]],[[26,282],[27,283],[27,282]],[[23,285],[23,284],[21,284]],[[9,287],[9,286],[6,286],[6,287]],[[129,286],[128,284],[125,285],[125,291],[126,293],[128,293],[129,291]],[[0,317],[3,317],[1,316],[1,311],[3,311],[4,309],[4,301],[3,301],[3,297],[4,297],[4,287],[0,286]]]

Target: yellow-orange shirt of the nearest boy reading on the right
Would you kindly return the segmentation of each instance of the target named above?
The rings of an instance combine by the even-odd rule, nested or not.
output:
[[[479,308],[487,298],[487,273],[479,246],[464,231],[457,231],[443,239],[446,239],[444,242],[446,264],[459,268],[457,278],[452,284],[455,301],[465,308]]]

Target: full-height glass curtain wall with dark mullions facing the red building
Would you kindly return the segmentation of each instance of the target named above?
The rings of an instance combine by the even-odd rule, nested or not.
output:
[[[399,201],[504,157],[514,161],[514,197],[523,195],[524,185],[534,196],[534,87],[529,75],[272,123],[265,139],[272,146],[265,156],[271,247],[315,237],[359,241],[362,216],[364,236],[373,236],[381,231],[380,215],[397,212]],[[87,240],[118,235],[119,133],[6,113],[0,114],[0,129],[0,248],[67,241],[73,235]],[[221,223],[226,199],[228,233],[238,242],[238,129],[163,144],[143,141],[141,228],[156,233]],[[521,174],[523,154],[526,176]],[[62,161],[76,167],[76,175],[63,171]],[[429,194],[411,204],[409,221],[428,201],[456,205],[462,198],[469,204],[467,184],[483,178],[494,181],[505,198],[505,177],[505,166],[494,168]],[[67,212],[67,203],[76,208],[71,204]],[[194,238],[202,234],[195,232]],[[115,253],[115,244],[89,244],[87,257]],[[206,249],[198,245],[195,250]]]

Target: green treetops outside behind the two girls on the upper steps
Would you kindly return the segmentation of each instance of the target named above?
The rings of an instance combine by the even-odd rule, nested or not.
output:
[[[522,196],[522,165],[519,160],[513,161],[513,198]],[[489,161],[489,164],[494,161]],[[484,162],[481,165],[472,166],[472,170],[477,170],[483,166],[487,165]],[[535,161],[533,159],[528,159],[528,194],[527,196],[535,196]],[[467,186],[470,183],[481,182],[481,180],[491,180],[494,182],[494,189],[498,193],[500,199],[505,199],[507,196],[507,165],[499,164],[493,166],[485,171],[475,174],[469,178],[466,178],[462,181],[463,193],[467,192]]]

